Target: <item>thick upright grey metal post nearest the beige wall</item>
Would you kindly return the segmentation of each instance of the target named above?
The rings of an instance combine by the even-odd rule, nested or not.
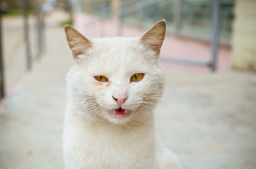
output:
[[[219,0],[212,1],[212,37],[211,37],[211,71],[216,70],[217,52],[218,52],[218,36],[219,36],[219,11],[220,4]]]

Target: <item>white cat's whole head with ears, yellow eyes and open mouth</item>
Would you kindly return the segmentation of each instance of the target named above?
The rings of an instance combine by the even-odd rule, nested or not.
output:
[[[76,62],[67,75],[68,94],[78,113],[115,124],[152,116],[164,86],[158,58],[165,29],[162,20],[141,37],[88,39],[65,26]]]

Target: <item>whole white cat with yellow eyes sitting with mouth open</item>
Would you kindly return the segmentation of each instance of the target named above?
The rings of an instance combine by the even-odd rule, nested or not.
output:
[[[76,62],[67,74],[66,168],[179,168],[156,137],[152,111],[164,88],[165,29],[162,20],[141,37],[88,39],[65,26]]]

